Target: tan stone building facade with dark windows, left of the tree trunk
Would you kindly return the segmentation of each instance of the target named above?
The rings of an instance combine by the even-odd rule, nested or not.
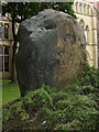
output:
[[[0,2],[0,11],[2,11],[2,4],[6,3]],[[0,80],[11,79],[13,37],[9,13],[2,16],[0,12]]]

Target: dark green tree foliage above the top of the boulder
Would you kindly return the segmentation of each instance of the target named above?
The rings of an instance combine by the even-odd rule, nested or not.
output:
[[[72,6],[72,2],[8,2],[3,6],[3,14],[9,12],[14,18],[14,22],[22,22],[44,9],[54,9],[76,18]]]

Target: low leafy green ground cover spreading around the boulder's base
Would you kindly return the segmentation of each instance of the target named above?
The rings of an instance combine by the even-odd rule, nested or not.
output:
[[[99,73],[86,65],[75,79],[63,88],[42,86],[4,108],[3,131],[98,130]]]

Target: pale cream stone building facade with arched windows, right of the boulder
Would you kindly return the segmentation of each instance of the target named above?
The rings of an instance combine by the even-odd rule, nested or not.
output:
[[[86,37],[87,61],[99,67],[99,11],[94,2],[75,0],[73,9]]]

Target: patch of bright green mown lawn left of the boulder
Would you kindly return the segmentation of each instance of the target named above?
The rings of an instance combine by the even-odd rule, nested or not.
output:
[[[20,98],[20,89],[16,82],[2,86],[2,106]]]

